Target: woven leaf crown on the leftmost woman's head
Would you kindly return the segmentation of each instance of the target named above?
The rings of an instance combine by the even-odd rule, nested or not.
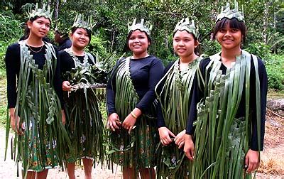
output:
[[[34,18],[35,16],[38,16],[38,17],[45,17],[45,18],[49,18],[50,21],[52,20],[52,15],[53,14],[53,11],[50,11],[50,6],[48,6],[47,9],[45,9],[45,4],[43,4],[43,8],[38,8],[38,4],[35,4],[35,9],[32,10],[32,7],[31,9],[28,10],[28,19],[31,19],[31,18]]]

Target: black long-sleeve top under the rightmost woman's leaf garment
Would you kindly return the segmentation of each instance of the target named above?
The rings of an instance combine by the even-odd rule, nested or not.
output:
[[[209,58],[205,58],[200,63],[200,70],[202,72],[203,79],[205,79],[205,70],[210,62]],[[209,68],[209,70],[211,70]],[[222,70],[222,74],[226,74],[226,66],[221,65],[220,70]],[[266,120],[266,94],[268,89],[268,81],[267,81],[267,74],[266,68],[263,65],[263,62],[258,59],[258,75],[260,80],[260,89],[261,89],[261,148],[263,150],[263,139],[264,139],[264,124]],[[206,77],[207,81],[209,80],[209,72],[207,73]],[[245,87],[245,85],[244,85]],[[251,126],[252,126],[252,133],[251,133],[251,142],[249,143],[249,148],[253,151],[258,151],[258,138],[257,138],[257,123],[256,123],[256,71],[253,65],[253,60],[251,57],[251,76],[250,76],[250,114],[251,114]],[[193,126],[193,122],[197,119],[197,103],[200,102],[200,99],[204,97],[204,89],[200,89],[197,83],[197,77],[195,77],[195,82],[193,86],[193,93],[192,93],[192,102],[190,105],[190,114],[187,119],[187,129],[186,134],[194,134],[195,128]],[[241,102],[239,104],[239,108],[236,112],[236,118],[241,116],[246,116],[246,94],[245,89],[243,89],[243,94],[241,96]]]

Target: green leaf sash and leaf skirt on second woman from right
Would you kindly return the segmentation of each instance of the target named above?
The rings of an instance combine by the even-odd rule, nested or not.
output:
[[[179,60],[176,60],[170,70],[158,82],[163,85],[161,92],[156,94],[161,104],[165,126],[173,134],[178,134],[186,128],[188,109],[190,107],[190,92],[195,78],[195,72],[200,58],[188,65],[186,72],[180,72]],[[163,81],[165,83],[163,84]],[[174,110],[173,110],[174,109]],[[180,178],[187,177],[191,171],[191,163],[185,158],[185,153],[174,143],[168,146],[159,145],[157,167],[158,178]]]

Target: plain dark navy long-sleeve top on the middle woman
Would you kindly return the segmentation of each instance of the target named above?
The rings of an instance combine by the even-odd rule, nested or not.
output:
[[[116,65],[119,65],[119,60]],[[153,55],[146,58],[131,59],[130,73],[134,89],[140,101],[136,104],[141,112],[147,112],[150,104],[155,100],[155,85],[163,75],[164,66],[160,59]],[[124,90],[124,89],[120,89]],[[115,107],[116,74],[111,75],[107,84],[107,109],[108,114],[116,113]]]

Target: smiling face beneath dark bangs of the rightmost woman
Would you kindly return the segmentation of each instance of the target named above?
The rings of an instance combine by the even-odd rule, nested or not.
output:
[[[240,49],[241,39],[241,31],[238,28],[230,28],[229,24],[217,32],[217,40],[226,50]]]

